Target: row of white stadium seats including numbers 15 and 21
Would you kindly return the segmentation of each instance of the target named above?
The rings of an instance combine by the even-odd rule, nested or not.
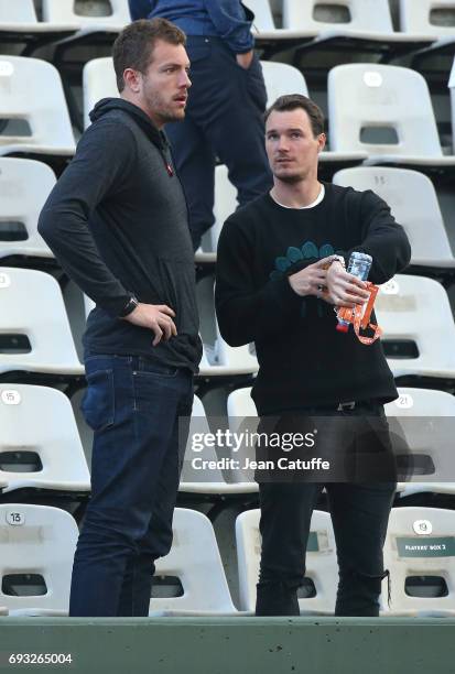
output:
[[[245,437],[248,431],[249,437],[253,437],[259,420],[249,388],[236,389],[228,395],[227,413],[227,426],[232,436]],[[455,465],[451,449],[455,431],[455,398],[444,391],[403,387],[399,389],[397,401],[386,405],[386,414],[391,432],[405,439],[418,468],[409,482],[399,482],[401,499],[422,492],[455,494]],[[399,417],[399,428],[394,428],[394,417]],[[218,418],[210,418],[210,422],[212,426],[214,423],[223,424]],[[11,492],[21,490],[32,499],[43,500],[51,493],[62,502],[68,499],[86,501],[90,492],[89,470],[66,395],[50,387],[0,384],[0,428],[3,501],[6,494],[10,500]],[[201,497],[257,492],[252,472],[229,464],[238,448],[232,450],[221,444],[201,444],[208,434],[209,421],[203,402],[196,395],[180,491]],[[249,456],[250,452],[253,447],[248,443],[242,445],[242,457]],[[194,465],[196,457],[214,461],[212,468],[198,469]]]

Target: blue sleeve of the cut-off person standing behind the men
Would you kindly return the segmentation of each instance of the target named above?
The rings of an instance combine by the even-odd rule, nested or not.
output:
[[[245,54],[254,46],[251,22],[247,20],[247,8],[239,0],[204,0],[207,14],[218,35],[236,54]],[[248,18],[254,14],[249,12]]]

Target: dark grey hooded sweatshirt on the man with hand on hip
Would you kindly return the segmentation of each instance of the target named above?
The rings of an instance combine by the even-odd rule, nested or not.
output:
[[[100,100],[74,160],[50,194],[39,231],[96,303],[86,352],[140,355],[197,372],[202,346],[186,200],[166,137],[137,106]],[[177,336],[119,318],[131,294],[175,312]]]

